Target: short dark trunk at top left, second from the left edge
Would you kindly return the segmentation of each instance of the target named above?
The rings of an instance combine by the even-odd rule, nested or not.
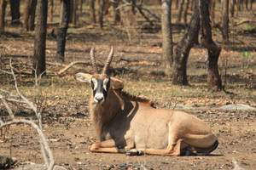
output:
[[[20,24],[20,0],[10,0],[9,1],[12,15],[12,24]]]

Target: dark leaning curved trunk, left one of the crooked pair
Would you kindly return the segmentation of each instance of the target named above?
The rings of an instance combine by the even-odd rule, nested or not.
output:
[[[187,27],[183,39],[177,43],[175,48],[173,67],[172,67],[172,84],[188,85],[187,79],[187,61],[190,49],[198,39],[200,29],[200,18],[198,9],[198,0],[194,1],[193,14]]]

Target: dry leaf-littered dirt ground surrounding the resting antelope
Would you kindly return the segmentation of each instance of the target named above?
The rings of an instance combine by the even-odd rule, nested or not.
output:
[[[160,15],[160,8],[150,7]],[[174,14],[177,11],[174,10]],[[84,13],[84,18],[88,14]],[[218,15],[217,15],[218,16]],[[161,59],[160,23],[148,26],[137,19],[137,26],[124,28],[113,26],[108,20],[103,30],[88,26],[88,20],[80,18],[77,28],[70,28],[67,37],[67,65],[73,60],[89,61],[89,51],[96,47],[96,58],[102,64],[110,45],[115,48],[111,74],[125,81],[125,91],[151,99],[157,107],[179,109],[198,116],[212,127],[219,139],[217,150],[210,156],[125,156],[121,154],[90,153],[88,146],[96,141],[90,122],[88,100],[90,85],[76,82],[76,72],[90,72],[90,65],[75,65],[61,77],[55,76],[64,66],[55,62],[55,37],[47,39],[47,77],[41,81],[44,99],[44,134],[55,157],[55,163],[67,169],[233,169],[232,157],[241,167],[256,168],[256,111],[219,110],[222,105],[246,104],[256,106],[256,26],[247,31],[244,24],[231,27],[230,43],[222,44],[220,32],[213,29],[213,39],[223,47],[219,59],[225,91],[212,93],[207,89],[207,50],[196,46],[188,61],[190,86],[172,86],[171,72]],[[254,20],[249,12],[241,12],[231,21]],[[33,100],[31,56],[33,32],[19,27],[7,27],[1,35],[1,68],[9,69],[9,57],[17,72],[20,91]],[[129,40],[128,33],[131,32]],[[183,26],[175,25],[174,42],[183,36]],[[0,88],[14,91],[12,77],[0,74]],[[20,105],[12,105],[17,118],[34,119],[32,111]],[[7,116],[0,105],[0,116]],[[3,129],[0,138],[0,155],[13,156],[18,165],[43,163],[38,144],[38,134],[32,127],[18,124]]]

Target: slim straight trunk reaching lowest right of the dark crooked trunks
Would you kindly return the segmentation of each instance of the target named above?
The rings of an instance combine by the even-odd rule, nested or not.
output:
[[[229,42],[229,3],[229,0],[223,0],[221,30],[224,42]]]

